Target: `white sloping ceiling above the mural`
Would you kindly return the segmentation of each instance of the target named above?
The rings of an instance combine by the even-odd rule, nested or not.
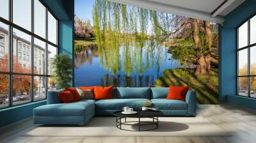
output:
[[[116,3],[140,6],[149,10],[158,10],[174,15],[183,15],[195,19],[208,20],[222,24],[224,17],[245,0],[108,0]],[[222,6],[221,3],[225,1]],[[220,6],[220,8],[218,8]],[[218,8],[217,11],[214,10]]]

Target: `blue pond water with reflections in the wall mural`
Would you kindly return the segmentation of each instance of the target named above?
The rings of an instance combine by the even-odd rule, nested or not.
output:
[[[75,86],[154,86],[165,69],[182,68],[152,40],[88,46],[75,55]]]

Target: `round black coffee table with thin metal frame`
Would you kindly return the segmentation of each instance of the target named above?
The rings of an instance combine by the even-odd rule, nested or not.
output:
[[[130,125],[130,126],[138,126],[139,130],[126,130],[126,131],[150,131],[150,130],[155,130],[158,128],[158,123],[159,123],[159,116],[163,116],[163,112],[159,110],[147,110],[147,111],[142,111],[139,110],[137,111],[137,114],[122,114],[121,111],[116,111],[114,112],[114,116],[116,116],[116,127],[119,128],[120,130],[126,130],[122,128],[122,125]],[[138,121],[126,121],[126,118],[138,118]],[[141,121],[141,118],[151,118],[152,121]],[[124,122],[122,122],[122,119],[125,119]],[[138,123],[138,124],[132,124],[132,123]],[[150,128],[148,130],[141,130],[141,126],[149,126],[149,125],[154,125],[153,128]]]

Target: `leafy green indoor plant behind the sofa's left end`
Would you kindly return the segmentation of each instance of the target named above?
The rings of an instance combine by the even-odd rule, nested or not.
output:
[[[60,54],[51,59],[52,76],[56,80],[57,89],[70,87],[72,81],[72,59],[67,54]]]

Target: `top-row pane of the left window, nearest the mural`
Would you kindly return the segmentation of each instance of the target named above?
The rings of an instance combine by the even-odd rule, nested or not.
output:
[[[48,40],[57,45],[57,20],[48,11]]]

